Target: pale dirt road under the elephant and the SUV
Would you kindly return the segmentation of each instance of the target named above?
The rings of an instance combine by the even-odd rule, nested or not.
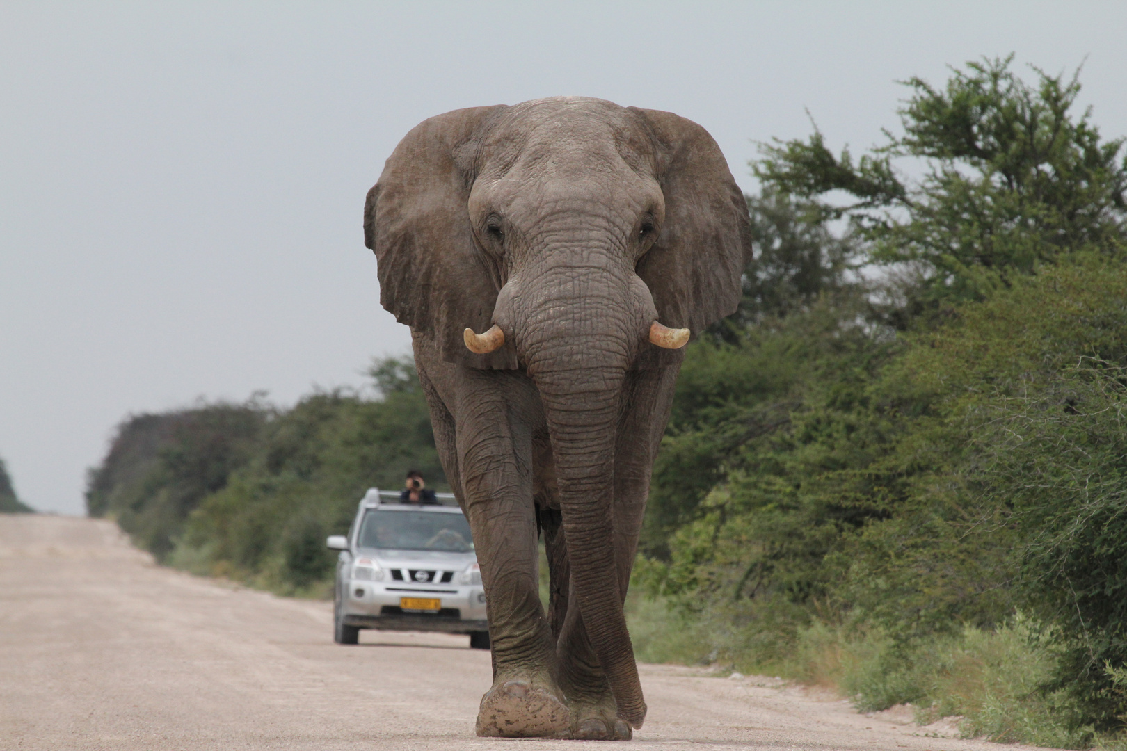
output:
[[[0,749],[606,749],[473,736],[489,654],[156,566],[107,521],[0,515]],[[641,665],[642,749],[1001,751],[773,681]],[[520,744],[520,745],[514,745]],[[620,746],[615,746],[620,748]]]

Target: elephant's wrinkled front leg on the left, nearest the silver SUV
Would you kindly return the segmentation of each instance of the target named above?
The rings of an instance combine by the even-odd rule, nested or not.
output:
[[[554,640],[539,593],[531,439],[499,397],[459,426],[462,490],[489,611],[494,682],[477,734],[561,737],[570,715],[554,671]],[[492,415],[494,419],[482,419]]]

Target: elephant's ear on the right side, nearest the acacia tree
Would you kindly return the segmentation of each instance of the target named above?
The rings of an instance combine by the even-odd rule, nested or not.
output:
[[[630,108],[657,146],[665,223],[638,263],[658,320],[693,336],[736,312],[752,259],[747,200],[708,131],[673,113]]]

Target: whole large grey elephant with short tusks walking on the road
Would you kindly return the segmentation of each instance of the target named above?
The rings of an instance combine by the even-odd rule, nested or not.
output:
[[[480,562],[477,734],[631,737],[623,601],[654,459],[683,346],[735,312],[752,252],[724,154],[689,119],[603,99],[458,109],[396,146],[364,243]]]

